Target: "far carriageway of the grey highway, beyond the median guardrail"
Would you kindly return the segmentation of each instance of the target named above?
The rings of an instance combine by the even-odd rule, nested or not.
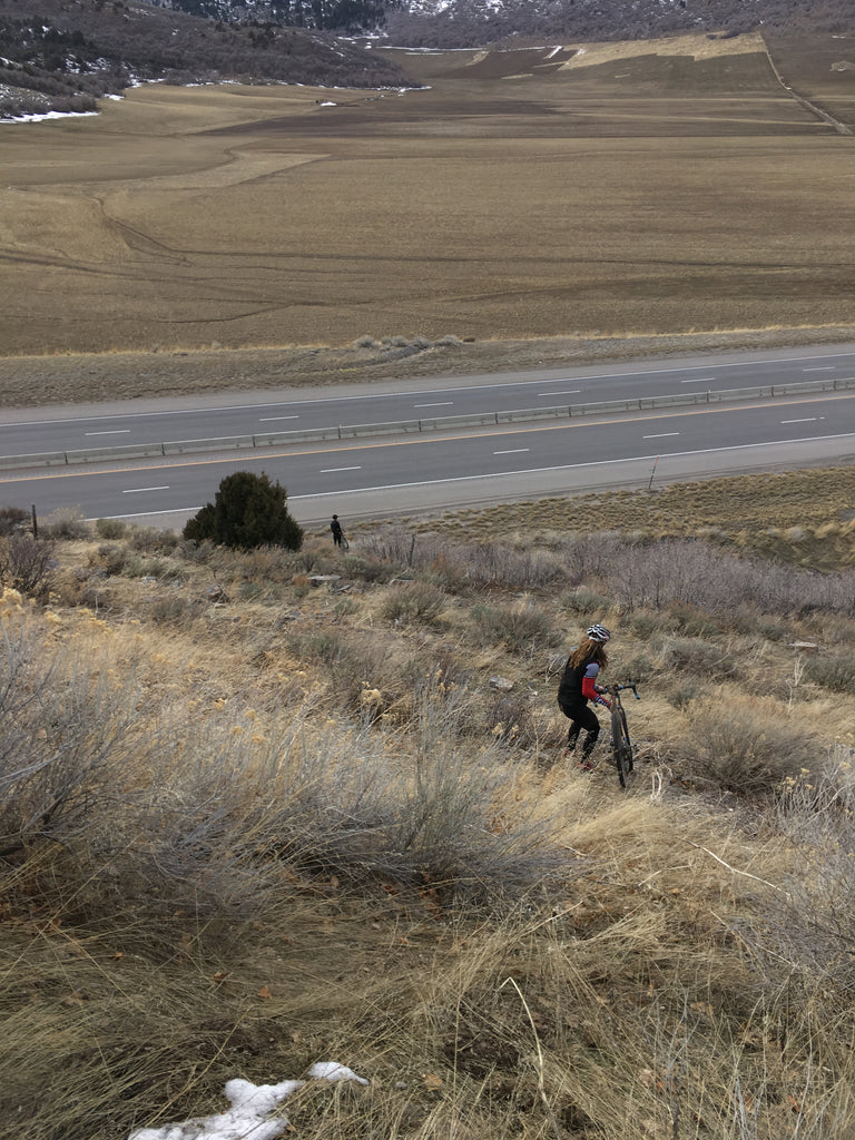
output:
[[[100,408],[16,409],[0,413],[0,455],[38,455],[185,440],[222,439],[312,427],[433,420],[479,412],[547,408],[600,400],[730,391],[855,377],[855,349],[790,350],[637,367],[568,368],[523,377],[483,376],[293,390],[235,399],[133,401]]]

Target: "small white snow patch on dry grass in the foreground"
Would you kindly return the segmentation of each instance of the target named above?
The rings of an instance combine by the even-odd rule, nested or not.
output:
[[[368,1084],[365,1077],[337,1061],[317,1061],[307,1075],[315,1081]],[[231,1104],[227,1112],[160,1129],[137,1129],[128,1140],[276,1140],[287,1129],[288,1118],[284,1113],[271,1118],[270,1113],[304,1084],[306,1081],[253,1084],[236,1077],[226,1082],[226,1100]]]

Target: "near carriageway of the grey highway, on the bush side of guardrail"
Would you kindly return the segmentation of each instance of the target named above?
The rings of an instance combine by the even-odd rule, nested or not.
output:
[[[287,488],[295,518],[312,523],[418,513],[463,503],[648,486],[731,471],[846,462],[855,456],[855,393],[381,441],[295,445],[263,453],[128,462],[103,470],[8,473],[0,503],[41,516],[80,506],[88,518],[180,526],[227,474],[266,471]],[[656,472],[653,464],[656,463]]]

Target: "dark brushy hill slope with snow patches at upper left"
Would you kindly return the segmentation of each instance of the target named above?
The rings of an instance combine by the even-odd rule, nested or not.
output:
[[[0,0],[0,116],[93,111],[140,80],[400,87],[375,52],[315,30],[223,24],[141,0]]]

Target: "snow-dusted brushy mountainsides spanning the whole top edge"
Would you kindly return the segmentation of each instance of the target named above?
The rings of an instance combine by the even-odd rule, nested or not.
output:
[[[0,0],[0,117],[93,111],[145,80],[407,84],[355,34],[455,48],[852,23],[846,0]]]

